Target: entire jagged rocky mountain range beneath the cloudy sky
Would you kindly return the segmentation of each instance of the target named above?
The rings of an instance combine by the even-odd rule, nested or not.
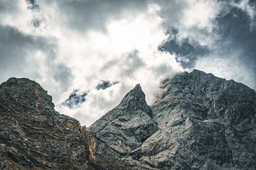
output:
[[[256,169],[256,92],[198,70],[137,84],[89,128],[29,79],[0,85],[0,169]]]

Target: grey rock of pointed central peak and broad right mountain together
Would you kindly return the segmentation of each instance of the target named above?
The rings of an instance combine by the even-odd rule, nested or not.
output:
[[[135,89],[123,101],[139,110],[122,101],[90,127],[97,154],[112,149],[131,169],[256,169],[254,90],[194,70],[163,81],[150,110]]]

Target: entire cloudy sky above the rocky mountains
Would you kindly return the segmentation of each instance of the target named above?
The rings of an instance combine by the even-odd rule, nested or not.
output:
[[[28,77],[90,125],[141,84],[201,69],[256,89],[255,0],[0,0],[0,82]]]

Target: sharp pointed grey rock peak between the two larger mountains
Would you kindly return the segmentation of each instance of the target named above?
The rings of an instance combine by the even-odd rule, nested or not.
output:
[[[157,130],[145,94],[137,84],[119,105],[90,126],[96,150],[103,157],[120,157],[136,149]]]

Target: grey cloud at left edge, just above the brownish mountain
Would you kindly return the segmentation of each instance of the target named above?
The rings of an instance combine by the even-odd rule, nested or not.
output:
[[[31,63],[29,57],[34,52],[49,52],[48,41],[45,38],[21,33],[16,28],[0,25],[0,79],[4,81],[9,77],[22,77],[26,69],[36,64]],[[30,74],[38,77],[36,68]]]

